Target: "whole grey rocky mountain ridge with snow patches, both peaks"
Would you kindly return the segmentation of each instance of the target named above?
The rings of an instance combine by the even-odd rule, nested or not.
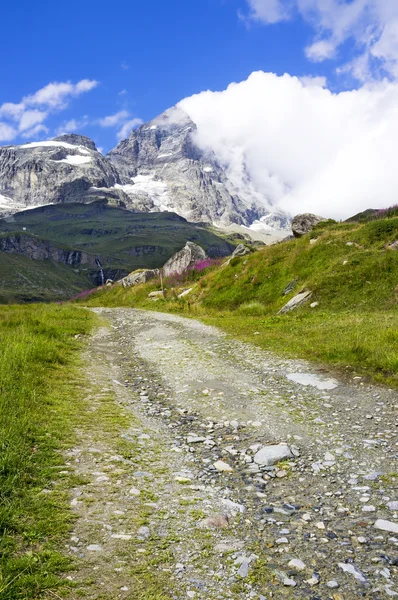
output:
[[[214,153],[199,148],[195,132],[195,123],[174,107],[106,156],[77,134],[0,147],[0,216],[106,199],[136,212],[176,212],[191,222],[284,229],[250,182],[238,189]]]

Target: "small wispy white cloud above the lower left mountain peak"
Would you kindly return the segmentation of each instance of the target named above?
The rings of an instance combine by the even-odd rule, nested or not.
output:
[[[98,82],[92,79],[82,79],[77,83],[53,82],[34,94],[25,96],[18,103],[4,102],[0,106],[0,117],[8,123],[2,125],[0,141],[11,141],[17,137],[18,132],[23,137],[48,133],[49,130],[43,123],[50,114],[64,110],[72,98],[89,92],[97,85]]]

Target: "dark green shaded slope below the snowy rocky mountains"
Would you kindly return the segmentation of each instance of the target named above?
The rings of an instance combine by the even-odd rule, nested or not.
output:
[[[3,273],[0,288],[16,290],[14,282],[19,281],[23,297],[29,297],[30,284],[23,282],[31,280],[29,265],[33,273],[40,262],[42,270],[48,265],[49,275],[66,268],[70,273],[65,281],[71,285],[60,287],[52,276],[47,282],[41,274],[37,289],[43,282],[43,289],[53,289],[54,298],[70,297],[101,285],[102,276],[119,279],[134,269],[161,267],[187,240],[212,257],[226,256],[234,248],[209,228],[174,213],[132,213],[106,202],[54,204],[19,212],[0,220],[0,261],[7,275]]]

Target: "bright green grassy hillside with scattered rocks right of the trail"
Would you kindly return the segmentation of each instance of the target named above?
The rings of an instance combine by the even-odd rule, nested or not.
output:
[[[389,248],[395,240],[397,217],[320,224],[300,239],[191,272],[186,281],[171,278],[156,303],[147,297],[156,282],[112,288],[88,302],[197,315],[264,348],[398,383],[398,250]],[[312,291],[317,306],[278,315],[303,290]]]

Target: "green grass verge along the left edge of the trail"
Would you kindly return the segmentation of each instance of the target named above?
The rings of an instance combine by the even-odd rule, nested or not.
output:
[[[55,597],[70,564],[61,451],[82,403],[78,334],[94,322],[73,306],[0,307],[0,597]]]

